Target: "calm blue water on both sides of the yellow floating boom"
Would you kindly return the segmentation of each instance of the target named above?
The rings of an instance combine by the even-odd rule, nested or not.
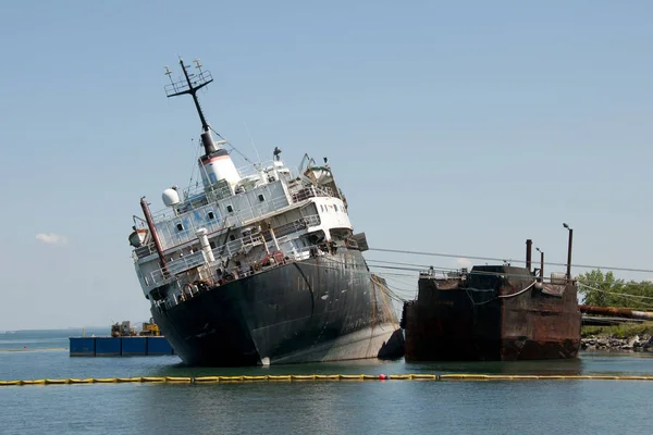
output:
[[[106,334],[108,331],[86,331]],[[0,380],[226,374],[640,374],[648,355],[523,363],[189,369],[177,357],[70,358],[81,331],[0,333]],[[27,348],[25,348],[27,346]],[[0,387],[0,434],[650,434],[653,382],[308,382]]]

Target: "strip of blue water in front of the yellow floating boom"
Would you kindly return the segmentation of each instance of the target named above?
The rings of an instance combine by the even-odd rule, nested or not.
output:
[[[3,435],[644,434],[652,394],[615,381],[53,385],[2,387],[0,407]]]

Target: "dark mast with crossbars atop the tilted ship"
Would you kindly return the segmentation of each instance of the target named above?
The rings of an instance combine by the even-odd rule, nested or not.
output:
[[[170,75],[172,72],[165,66],[165,75],[170,77],[170,85],[165,86],[165,95],[168,98],[177,97],[181,95],[189,95],[193,97],[193,101],[195,102],[195,108],[197,109],[197,114],[199,114],[199,120],[201,121],[201,142],[205,147],[206,156],[215,152],[218,149],[215,148],[215,142],[213,142],[213,138],[211,137],[211,130],[207,120],[201,111],[201,107],[199,105],[199,100],[197,99],[197,91],[209,83],[213,82],[213,77],[209,71],[202,71],[201,64],[199,63],[199,59],[195,61],[195,67],[199,70],[198,74],[188,74],[187,66],[184,64],[182,58],[180,58],[180,65],[182,66],[182,71],[184,72],[184,78],[174,82]]]

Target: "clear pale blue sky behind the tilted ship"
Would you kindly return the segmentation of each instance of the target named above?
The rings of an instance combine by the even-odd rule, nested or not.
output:
[[[564,262],[569,222],[575,262],[652,269],[652,22],[643,0],[7,1],[0,330],[149,318],[132,215],[187,184],[200,132],[163,92],[177,54],[244,153],[246,123],[266,158],[328,156],[372,247],[521,259],[530,237]]]

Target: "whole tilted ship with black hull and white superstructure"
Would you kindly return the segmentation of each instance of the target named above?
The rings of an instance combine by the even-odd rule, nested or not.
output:
[[[141,198],[130,243],[136,274],[163,335],[184,362],[255,365],[399,358],[403,335],[384,281],[370,273],[365,233],[326,159],[297,173],[271,162],[237,170],[215,141],[196,92],[212,82],[180,60],[168,97],[189,95],[199,114],[201,184]],[[167,69],[167,74],[171,72]]]

